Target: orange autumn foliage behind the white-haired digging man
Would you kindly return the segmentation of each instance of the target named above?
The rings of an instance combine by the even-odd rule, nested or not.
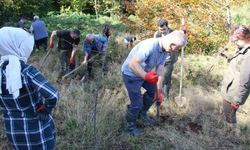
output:
[[[226,0],[137,0],[137,24],[152,32],[160,18],[179,29],[187,19],[189,47],[194,53],[209,53],[227,41]]]

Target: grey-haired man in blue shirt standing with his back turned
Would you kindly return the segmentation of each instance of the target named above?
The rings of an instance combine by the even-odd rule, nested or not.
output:
[[[45,22],[39,19],[39,16],[34,16],[34,22],[30,27],[31,32],[34,34],[36,48],[40,46],[47,48],[48,31]]]

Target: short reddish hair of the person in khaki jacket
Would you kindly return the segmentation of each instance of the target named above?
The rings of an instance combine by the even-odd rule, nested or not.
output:
[[[235,26],[232,29],[231,35],[234,35],[241,40],[250,40],[250,28],[244,25]]]

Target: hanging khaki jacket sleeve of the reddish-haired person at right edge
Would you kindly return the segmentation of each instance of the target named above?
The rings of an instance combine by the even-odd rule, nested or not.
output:
[[[250,93],[250,52],[240,66],[240,86],[238,88],[238,103],[244,104]]]

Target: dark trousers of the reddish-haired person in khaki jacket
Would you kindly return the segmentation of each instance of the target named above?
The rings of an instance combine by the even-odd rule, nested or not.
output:
[[[237,110],[232,109],[231,103],[223,100],[223,111],[228,123],[237,123],[236,112]]]

